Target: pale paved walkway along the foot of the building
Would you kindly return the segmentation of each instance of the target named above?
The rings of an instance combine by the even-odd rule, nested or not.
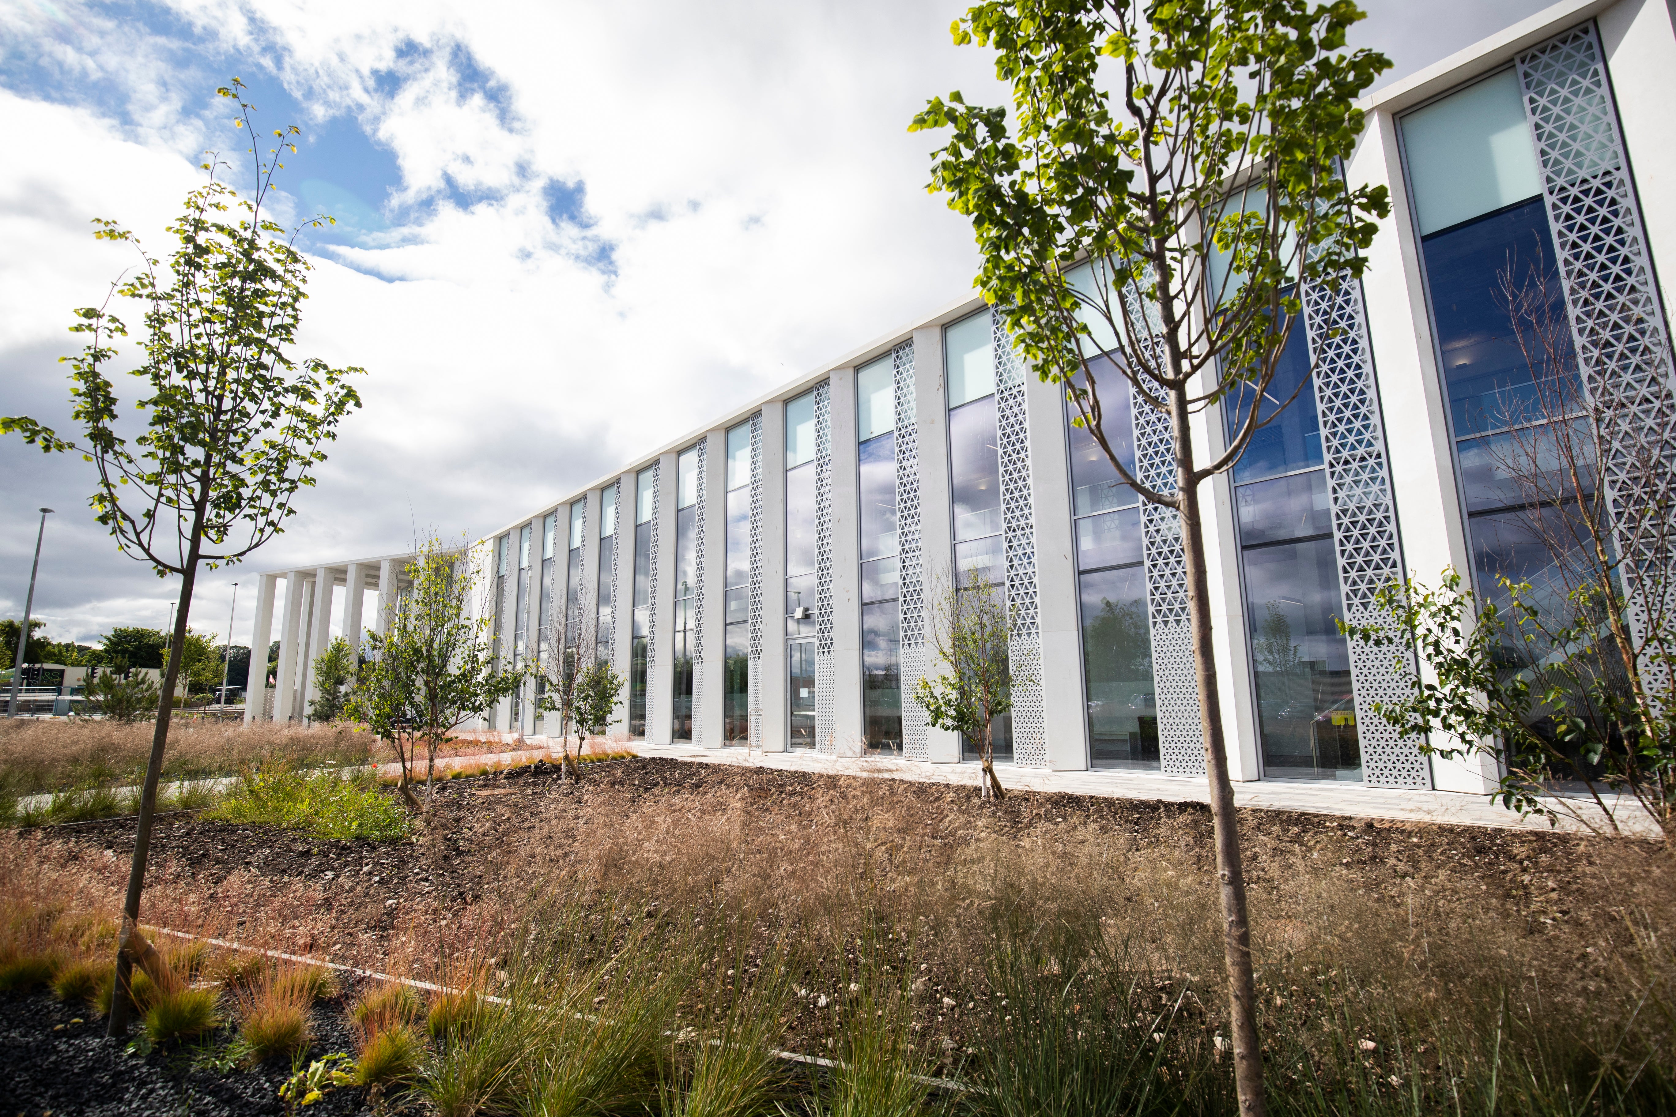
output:
[[[746,752],[744,749],[696,749],[692,745],[628,745],[644,757],[670,757],[696,764],[739,764],[793,772],[826,772],[835,775],[877,775],[908,779],[929,784],[957,784],[977,789],[975,764],[925,764],[890,757],[823,757],[813,752]],[[1205,779],[1193,775],[1158,775],[1155,772],[1042,772],[997,764],[1001,785],[1041,792],[1069,792],[1074,795],[1108,795],[1113,799],[1153,799],[1165,802],[1208,802],[1210,789]],[[1316,782],[1260,782],[1235,784],[1234,802],[1239,807],[1267,811],[1304,811],[1307,814],[1342,814],[1358,819],[1393,819],[1403,822],[1446,822],[1453,826],[1500,826],[1508,829],[1550,829],[1547,819],[1520,817],[1488,795],[1466,795],[1446,790],[1388,790],[1361,784]],[[1575,804],[1584,817],[1601,821],[1599,811],[1589,800]],[[1659,837],[1658,824],[1632,799],[1619,800],[1617,824],[1641,837]],[[1560,819],[1554,829],[1582,831],[1587,826],[1575,819]]]

